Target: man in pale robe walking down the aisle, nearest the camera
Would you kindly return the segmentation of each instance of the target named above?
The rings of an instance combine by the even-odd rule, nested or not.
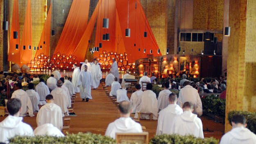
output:
[[[93,85],[93,77],[91,72],[87,72],[87,65],[84,65],[84,71],[80,72],[78,76],[77,85],[80,88],[80,97],[82,101],[86,99],[86,102],[89,99],[93,99],[91,96],[91,87]]]

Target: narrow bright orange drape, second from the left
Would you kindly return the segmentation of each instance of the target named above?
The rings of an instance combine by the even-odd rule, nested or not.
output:
[[[26,46],[23,50],[23,45]],[[29,50],[29,45],[31,49]],[[31,3],[27,1],[27,10],[25,15],[24,29],[20,44],[20,65],[27,65],[32,59],[32,21],[31,21]]]

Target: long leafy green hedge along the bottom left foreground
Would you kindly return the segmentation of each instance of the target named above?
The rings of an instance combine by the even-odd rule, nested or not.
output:
[[[116,140],[111,137],[91,133],[68,134],[65,137],[16,136],[9,142],[10,144],[116,144]]]

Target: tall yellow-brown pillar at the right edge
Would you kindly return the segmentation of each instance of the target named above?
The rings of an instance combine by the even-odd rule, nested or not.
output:
[[[256,110],[256,0],[230,0],[225,132],[230,110]]]

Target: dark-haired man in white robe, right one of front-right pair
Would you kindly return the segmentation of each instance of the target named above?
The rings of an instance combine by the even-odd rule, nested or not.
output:
[[[182,106],[183,114],[174,117],[173,132],[178,135],[194,135],[204,138],[203,124],[197,115],[193,114],[193,103],[185,102]]]

